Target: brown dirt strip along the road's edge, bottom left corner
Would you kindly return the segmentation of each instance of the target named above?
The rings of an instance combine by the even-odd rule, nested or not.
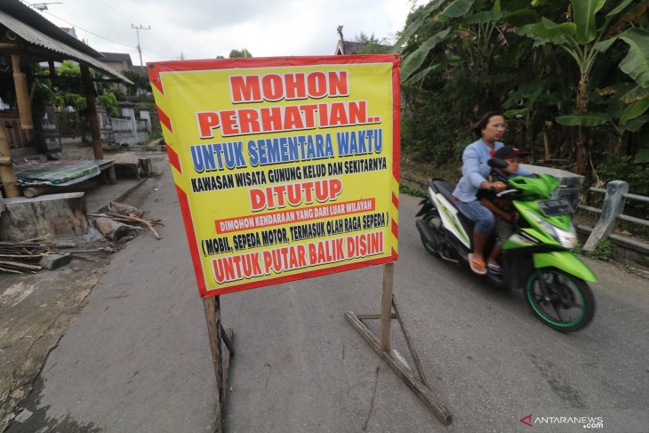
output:
[[[100,281],[108,257],[73,260],[37,274],[1,274],[0,289],[0,431],[17,414],[45,359],[59,343],[84,299]]]

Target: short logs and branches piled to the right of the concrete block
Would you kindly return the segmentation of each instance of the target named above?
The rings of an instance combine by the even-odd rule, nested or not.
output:
[[[144,217],[144,210],[129,204],[110,202],[108,212],[88,213],[94,219],[95,226],[108,240],[117,242],[128,236],[129,230],[141,230],[141,226],[148,227],[156,239],[161,239],[154,229],[154,225],[164,224],[160,220],[147,220]],[[140,224],[140,225],[137,225]]]

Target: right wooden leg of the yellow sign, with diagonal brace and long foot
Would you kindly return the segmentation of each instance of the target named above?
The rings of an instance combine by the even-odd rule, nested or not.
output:
[[[417,356],[417,352],[414,349],[413,341],[410,338],[410,334],[405,328],[403,317],[399,313],[397,307],[397,301],[392,293],[394,282],[394,263],[388,263],[384,265],[383,268],[383,293],[381,297],[381,314],[365,314],[365,315],[356,315],[351,311],[345,313],[345,318],[350,325],[361,334],[361,336],[370,344],[370,347],[397,373],[397,376],[401,378],[402,381],[412,389],[414,394],[421,399],[424,405],[429,408],[429,410],[437,416],[439,421],[444,425],[448,425],[452,421],[451,412],[446,409],[445,405],[437,399],[433,391],[430,389],[428,381],[426,381],[426,375],[421,368],[421,362]],[[393,312],[394,310],[394,312]],[[379,319],[380,328],[379,333],[380,338],[377,338],[376,335],[370,330],[363,320],[366,319]],[[413,364],[417,369],[418,376],[415,376],[407,365],[404,364],[401,359],[396,357],[389,347],[390,342],[390,325],[392,319],[397,319],[399,327],[401,328],[402,333],[404,333],[405,343],[408,346],[408,351],[410,356],[413,358]]]

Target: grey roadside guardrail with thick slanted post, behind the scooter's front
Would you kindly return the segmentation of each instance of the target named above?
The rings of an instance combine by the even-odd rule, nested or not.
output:
[[[626,204],[627,200],[649,203],[649,197],[629,194],[629,184],[623,180],[612,180],[606,184],[606,188],[590,188],[590,191],[603,193],[605,196],[602,209],[585,204],[577,205],[578,209],[599,213],[599,220],[597,221],[595,228],[590,228],[589,226],[581,224],[577,226],[577,229],[590,232],[589,238],[586,241],[586,244],[584,244],[583,249],[586,251],[593,251],[597,242],[603,239],[611,239],[623,246],[628,246],[642,253],[649,253],[649,244],[613,233],[618,221],[628,221],[649,227],[649,221],[625,215],[623,213],[624,204]]]

